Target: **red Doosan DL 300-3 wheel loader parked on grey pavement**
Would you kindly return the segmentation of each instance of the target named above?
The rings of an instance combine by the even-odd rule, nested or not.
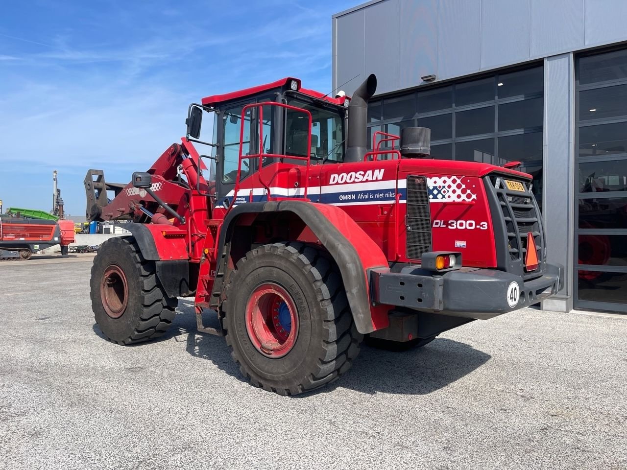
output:
[[[424,345],[557,293],[530,175],[430,159],[426,128],[367,150],[375,90],[374,75],[352,98],[284,78],[206,97],[129,184],[89,170],[88,219],[135,222],[93,262],[103,335],[157,338],[194,296],[199,331],[224,335],[251,384],[295,395],[346,372],[365,335]]]

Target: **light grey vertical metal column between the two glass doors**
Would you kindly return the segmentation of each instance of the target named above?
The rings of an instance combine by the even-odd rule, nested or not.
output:
[[[544,227],[549,263],[566,268],[561,296],[545,308],[572,309],[574,201],[574,65],[572,54],[544,61]],[[550,202],[552,201],[552,202]]]

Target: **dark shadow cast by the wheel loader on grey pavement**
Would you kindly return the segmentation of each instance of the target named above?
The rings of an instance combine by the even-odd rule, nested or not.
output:
[[[245,382],[224,338],[196,331],[193,303],[179,301],[177,310],[179,315],[175,317],[171,330],[157,341],[171,338],[186,341],[189,354],[210,360],[220,370]],[[209,313],[204,315],[204,322],[207,326],[218,326],[217,318]],[[97,326],[94,330],[101,334]],[[422,348],[405,352],[385,351],[362,344],[351,370],[334,384],[313,393],[344,387],[366,394],[430,394],[473,372],[490,358],[490,355],[470,345],[446,338],[436,338]]]

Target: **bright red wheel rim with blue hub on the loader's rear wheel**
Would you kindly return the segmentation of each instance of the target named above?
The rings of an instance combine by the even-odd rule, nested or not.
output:
[[[274,283],[258,286],[246,303],[246,332],[263,355],[280,358],[298,336],[298,315],[292,296]]]

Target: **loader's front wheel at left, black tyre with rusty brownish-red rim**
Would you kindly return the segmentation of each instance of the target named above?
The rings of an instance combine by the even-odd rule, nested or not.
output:
[[[172,325],[178,300],[163,290],[154,261],[132,237],[105,241],[93,259],[91,298],[96,323],[120,345],[159,338]]]

